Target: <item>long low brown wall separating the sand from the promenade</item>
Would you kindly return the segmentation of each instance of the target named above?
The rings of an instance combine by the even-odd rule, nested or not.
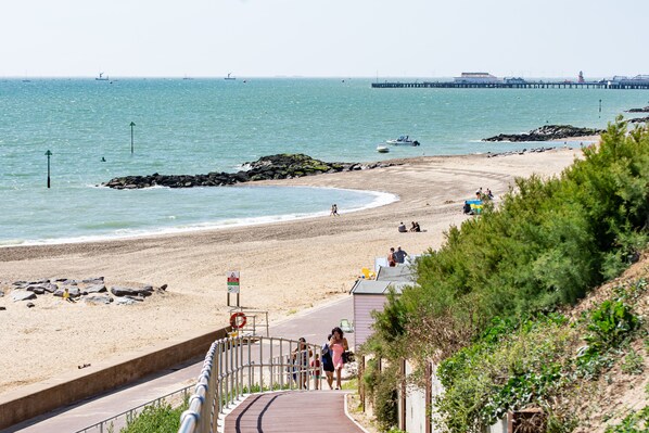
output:
[[[5,429],[61,406],[113,390],[153,372],[204,356],[229,328],[188,335],[165,346],[131,353],[82,370],[27,385],[0,395],[0,429]]]

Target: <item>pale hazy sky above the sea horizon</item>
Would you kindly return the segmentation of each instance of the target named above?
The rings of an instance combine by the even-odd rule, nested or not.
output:
[[[649,0],[0,0],[0,76],[649,74]]]

